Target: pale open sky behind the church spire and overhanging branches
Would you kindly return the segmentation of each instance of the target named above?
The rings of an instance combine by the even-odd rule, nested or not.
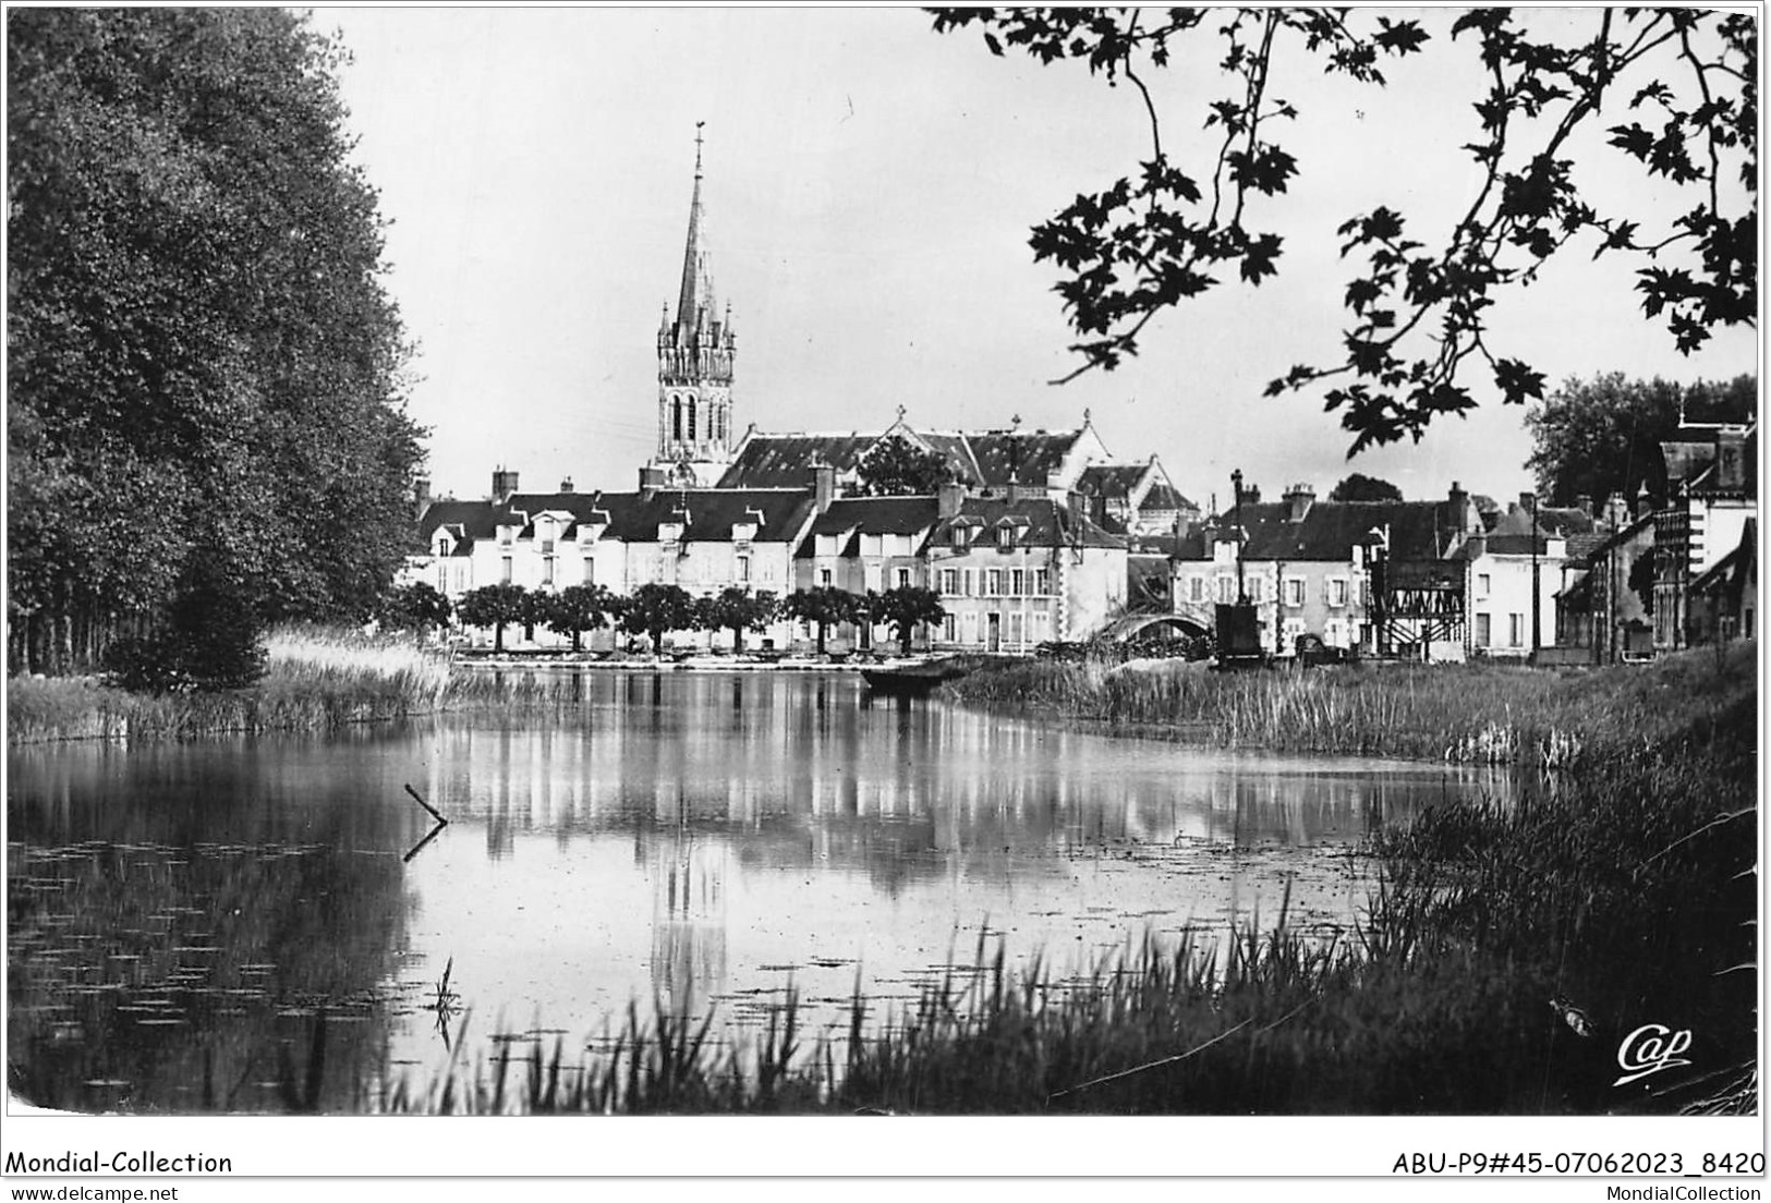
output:
[[[1411,16],[1445,51],[1450,14]],[[352,55],[349,126],[391,223],[386,285],[418,347],[409,411],[430,432],[437,494],[483,496],[496,466],[524,489],[634,487],[657,439],[655,333],[682,271],[696,122],[714,285],[739,338],[737,431],[878,431],[900,406],[923,429],[1073,427],[1087,413],[1116,457],[1160,455],[1199,505],[1227,498],[1234,468],[1268,496],[1326,494],[1350,471],[1410,498],[1454,480],[1496,498],[1530,487],[1523,409],[1502,407],[1486,374],[1470,381],[1489,402],[1475,415],[1353,461],[1319,393],[1261,395],[1339,345],[1342,220],[1388,204],[1442,236],[1468,204],[1458,147],[1475,138],[1479,76],[1463,43],[1388,66],[1385,89],[1323,80],[1282,46],[1273,92],[1302,117],[1277,140],[1300,174],[1250,213],[1286,239],[1279,276],[1226,282],[1160,315],[1121,369],[1054,386],[1077,367],[1075,335],[1029,229],[1149,156],[1141,97],[1082,64],[995,58],[978,32],[939,35],[903,7],[381,7],[313,21]],[[1203,175],[1215,71],[1178,62],[1149,83],[1165,147]],[[1603,133],[1571,151],[1601,209],[1663,202]],[[1750,330],[1681,356],[1642,317],[1631,266],[1589,255],[1564,252],[1509,296],[1496,356],[1551,384],[1757,370]]]

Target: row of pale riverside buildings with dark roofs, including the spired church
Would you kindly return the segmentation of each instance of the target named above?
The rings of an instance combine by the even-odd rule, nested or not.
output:
[[[1440,501],[1318,501],[1293,485],[1279,501],[1240,489],[1203,514],[1155,455],[1114,459],[1086,411],[1061,431],[1018,420],[924,431],[900,407],[882,431],[751,425],[733,438],[737,338],[708,264],[698,144],[682,285],[657,335],[657,450],[638,487],[565,480],[522,493],[505,468],[480,500],[430,500],[421,485],[404,579],[452,601],[498,583],[781,597],[919,586],[946,609],[916,634],[928,650],[1031,652],[1144,627],[1204,634],[1215,606],[1238,597],[1279,656],[1312,638],[1367,656],[1613,663],[1753,631],[1757,422],[1682,427],[1663,445],[1658,507],[1612,500],[1594,512],[1528,494],[1502,507],[1458,484]],[[893,439],[939,455],[951,484],[861,496],[862,462]],[[831,634],[847,650],[882,633]],[[680,638],[707,647],[730,634]],[[762,634],[781,650],[813,640],[790,620]],[[535,629],[530,641],[565,640]]]

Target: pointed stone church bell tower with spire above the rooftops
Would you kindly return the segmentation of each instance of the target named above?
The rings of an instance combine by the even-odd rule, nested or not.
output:
[[[659,448],[680,487],[712,487],[731,462],[731,308],[717,308],[708,271],[707,218],[701,213],[701,126],[694,126],[694,197],[689,243],[682,255],[677,315],[664,305],[659,326]]]

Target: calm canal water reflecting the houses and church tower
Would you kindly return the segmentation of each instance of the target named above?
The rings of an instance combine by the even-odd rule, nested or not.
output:
[[[664,1008],[742,1047],[891,1022],[979,946],[1057,976],[1231,925],[1350,932],[1355,849],[1498,788],[1116,739],[854,675],[572,673],[545,712],[14,748],[14,1093],[372,1109]],[[413,799],[450,819],[434,831]],[[324,1056],[313,1056],[321,1042]]]

